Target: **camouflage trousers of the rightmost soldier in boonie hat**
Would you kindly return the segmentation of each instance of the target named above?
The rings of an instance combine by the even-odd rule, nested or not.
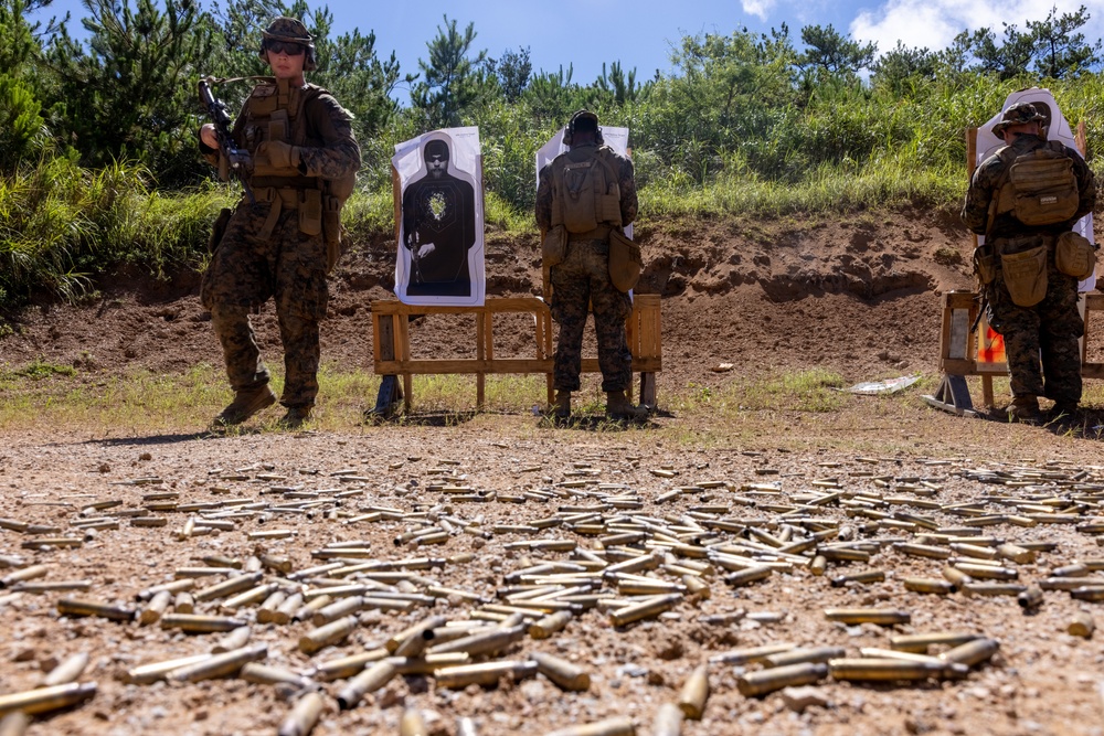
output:
[[[1085,323],[1078,311],[1078,279],[1059,271],[1051,256],[1047,296],[1034,307],[1013,305],[1000,274],[989,285],[988,296],[986,317],[992,329],[1005,338],[1012,396],[1080,402],[1078,339],[1084,334]]]

